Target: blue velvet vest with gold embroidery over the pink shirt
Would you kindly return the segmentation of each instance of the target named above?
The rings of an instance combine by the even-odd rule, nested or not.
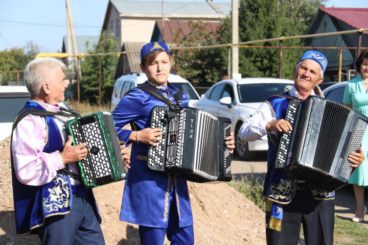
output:
[[[45,110],[34,101],[28,101],[22,109]],[[63,148],[61,134],[52,116],[46,116],[47,144],[43,152],[52,153]],[[15,228],[17,235],[37,233],[35,228],[42,226],[44,219],[71,211],[72,194],[68,176],[57,174],[48,184],[30,186],[20,183],[15,175],[11,157]]]

